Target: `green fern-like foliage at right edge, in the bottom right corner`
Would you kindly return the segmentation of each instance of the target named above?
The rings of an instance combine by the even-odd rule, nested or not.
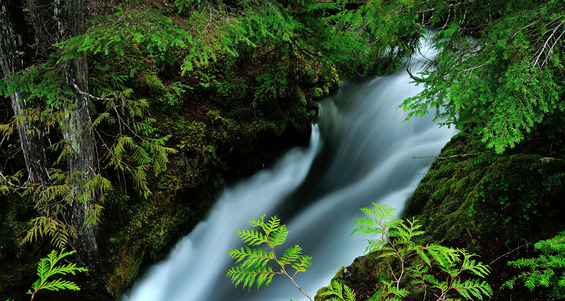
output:
[[[516,281],[523,281],[530,290],[536,287],[549,288],[545,293],[550,300],[565,299],[565,232],[538,241],[534,248],[540,252],[540,256],[509,261],[509,265],[528,271],[505,282],[503,287],[512,289]]]

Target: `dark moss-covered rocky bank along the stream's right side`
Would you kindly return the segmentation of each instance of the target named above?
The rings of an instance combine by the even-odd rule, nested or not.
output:
[[[512,300],[539,299],[542,290],[531,293],[523,285],[499,290],[519,274],[506,263],[534,256],[533,243],[565,228],[561,137],[542,132],[534,137],[494,155],[485,152],[473,134],[458,134],[442,149],[404,213],[423,225],[419,243],[441,242],[479,255],[477,260],[492,269],[486,280],[493,288],[493,300],[510,300],[511,295]],[[354,288],[358,300],[369,298],[382,280],[392,278],[388,264],[377,255],[355,259],[333,281]],[[407,300],[421,300],[421,287],[405,284],[412,293]],[[320,293],[326,290],[320,289],[316,301],[324,300]]]

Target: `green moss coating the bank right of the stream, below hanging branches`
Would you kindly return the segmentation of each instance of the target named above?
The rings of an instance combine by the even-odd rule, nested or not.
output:
[[[478,139],[461,134],[441,157],[481,151]],[[433,164],[407,207],[437,239],[455,239],[467,231],[515,241],[536,239],[540,223],[556,214],[565,161],[533,154],[475,158],[455,156]],[[497,230],[494,230],[497,229]],[[545,233],[547,234],[547,233]],[[469,246],[472,250],[473,244]]]

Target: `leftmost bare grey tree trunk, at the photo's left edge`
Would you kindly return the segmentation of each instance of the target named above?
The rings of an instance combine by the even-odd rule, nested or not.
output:
[[[25,43],[28,42],[25,21],[21,7],[16,7],[15,1],[0,0],[0,65],[4,76],[10,76],[26,66]],[[10,95],[14,115],[23,114],[27,108],[34,107],[20,93]],[[37,107],[37,106],[35,106]],[[29,175],[29,181],[34,183],[49,182],[47,173],[46,145],[41,138],[31,134],[38,124],[31,124],[23,119],[18,124],[18,136],[21,142],[21,150],[24,155],[25,165]]]

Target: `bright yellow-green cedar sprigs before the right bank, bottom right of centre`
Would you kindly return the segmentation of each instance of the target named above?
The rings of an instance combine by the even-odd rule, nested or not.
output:
[[[424,300],[429,294],[434,300],[472,300],[492,296],[493,292],[486,281],[476,278],[462,280],[463,272],[471,273],[484,278],[489,274],[488,266],[472,259],[477,256],[469,254],[464,249],[454,249],[429,243],[426,246],[414,242],[416,236],[424,232],[418,230],[418,220],[394,219],[394,210],[385,205],[373,203],[375,208],[360,209],[368,215],[355,221],[357,228],[353,233],[374,235],[380,238],[368,239],[367,250],[380,251],[379,257],[392,260],[389,263],[393,280],[384,280],[371,300],[402,300],[409,291],[401,287],[403,277],[410,278],[413,285],[424,288]],[[418,255],[423,261],[416,264],[410,261],[412,256]],[[436,274],[430,273],[430,269],[439,269],[443,273],[436,278]],[[435,276],[434,276],[435,275]],[[461,298],[453,298],[456,294]]]

